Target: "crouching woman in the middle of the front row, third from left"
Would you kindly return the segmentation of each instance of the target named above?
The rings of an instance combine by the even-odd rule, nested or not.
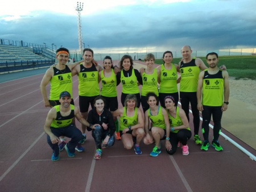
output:
[[[141,110],[137,107],[137,98],[134,94],[128,94],[125,98],[125,106],[114,111],[113,116],[119,116],[120,119],[120,135],[123,146],[131,149],[137,155],[141,155],[139,144],[144,137],[144,119]],[[135,145],[134,145],[135,144]]]

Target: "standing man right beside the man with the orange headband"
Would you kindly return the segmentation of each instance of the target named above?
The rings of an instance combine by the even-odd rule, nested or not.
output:
[[[100,95],[100,87],[98,83],[100,79],[98,72],[102,70],[100,65],[93,64],[93,51],[92,49],[85,48],[83,53],[84,62],[77,65],[72,70],[72,74],[77,74],[79,79],[79,107],[81,115],[84,119],[87,119],[89,105],[93,108],[94,98]],[[84,144],[86,140],[86,126],[82,124],[82,139],[80,144]]]

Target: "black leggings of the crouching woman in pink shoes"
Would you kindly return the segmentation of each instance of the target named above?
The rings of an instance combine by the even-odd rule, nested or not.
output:
[[[190,130],[180,130],[177,133],[170,133],[170,142],[172,145],[172,149],[170,151],[166,150],[169,155],[173,155],[177,150],[177,144],[180,143],[183,145],[187,145],[187,141],[191,137],[191,131]]]

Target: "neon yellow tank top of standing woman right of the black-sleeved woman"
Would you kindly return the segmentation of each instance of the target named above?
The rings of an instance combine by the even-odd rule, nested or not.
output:
[[[152,74],[142,73],[143,86],[141,95],[146,96],[148,92],[154,92],[158,96],[158,73],[156,68]]]

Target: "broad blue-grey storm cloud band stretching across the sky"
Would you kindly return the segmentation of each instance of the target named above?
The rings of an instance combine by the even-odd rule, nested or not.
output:
[[[219,3],[221,1],[218,1]],[[232,3],[230,3],[232,2]],[[87,47],[161,47],[180,49],[189,44],[196,49],[254,47],[255,3],[241,1],[172,3],[165,6],[126,6],[82,15],[82,36]],[[223,2],[221,2],[223,3]],[[246,11],[245,11],[246,10]],[[34,12],[18,20],[0,18],[0,38],[76,49],[76,15]]]

